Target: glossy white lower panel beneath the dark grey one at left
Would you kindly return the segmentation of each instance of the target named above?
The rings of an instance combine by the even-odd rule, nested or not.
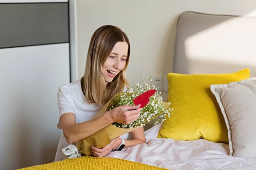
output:
[[[58,86],[69,81],[69,43],[0,49],[0,170],[54,161]]]

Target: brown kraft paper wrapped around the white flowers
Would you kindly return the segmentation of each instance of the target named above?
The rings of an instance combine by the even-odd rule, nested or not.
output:
[[[109,108],[113,105],[113,99],[118,97],[120,94],[116,94],[113,96],[108,103],[106,103],[100,111],[93,117],[93,119],[96,119],[99,116],[102,116],[104,113],[108,111]],[[168,104],[166,102],[163,102],[164,110],[169,108],[171,104]],[[162,112],[163,113],[163,112]],[[159,113],[161,114],[161,113]],[[151,119],[153,120],[153,118]],[[150,121],[151,121],[150,120]],[[148,123],[147,121],[144,123],[144,125]],[[125,133],[129,133],[133,130],[136,130],[137,127],[134,128],[120,128],[115,127],[114,125],[108,125],[101,130],[97,131],[96,133],[93,133],[92,135],[88,136],[87,138],[84,138],[78,142],[76,142],[76,147],[79,150],[80,153],[89,156],[92,153],[91,145],[97,148],[105,147],[106,145],[111,143],[111,139],[117,138]]]

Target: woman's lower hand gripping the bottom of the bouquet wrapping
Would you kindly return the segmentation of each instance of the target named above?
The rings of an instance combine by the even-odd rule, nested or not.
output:
[[[96,157],[104,157],[110,153],[111,150],[118,147],[118,145],[122,142],[120,138],[115,138],[111,140],[111,143],[102,147],[101,149],[92,146],[92,155]]]

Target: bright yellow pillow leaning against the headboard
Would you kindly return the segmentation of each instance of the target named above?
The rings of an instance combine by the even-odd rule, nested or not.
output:
[[[203,138],[228,144],[227,127],[210,85],[248,78],[248,68],[230,74],[169,73],[167,101],[172,103],[173,114],[163,122],[157,137],[175,140]]]

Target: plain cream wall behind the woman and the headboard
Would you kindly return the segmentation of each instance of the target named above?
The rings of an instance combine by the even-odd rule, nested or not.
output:
[[[78,0],[79,77],[93,32],[107,24],[118,26],[130,39],[129,82],[142,75],[166,76],[172,71],[175,25],[183,11],[256,16],[256,0]],[[166,100],[167,93],[162,94]]]

